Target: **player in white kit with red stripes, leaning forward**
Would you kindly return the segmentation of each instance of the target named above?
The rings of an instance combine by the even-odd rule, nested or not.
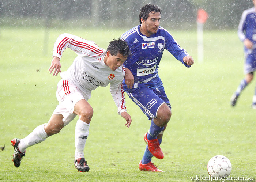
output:
[[[60,58],[66,48],[74,50],[78,55],[67,71],[61,72]],[[61,34],[53,48],[52,64],[49,72],[61,80],[57,84],[56,96],[59,105],[53,111],[48,123],[37,126],[27,137],[12,139],[14,147],[13,162],[20,166],[25,149],[41,143],[47,137],[59,133],[76,115],[79,119],[75,127],[75,168],[80,172],[90,170],[84,159],[84,147],[89,134],[93,108],[87,102],[91,91],[99,86],[106,87],[110,83],[110,92],[127,128],[131,125],[131,117],[126,112],[125,95],[122,81],[125,75],[123,67],[127,56],[131,54],[127,42],[117,39],[109,43],[107,50],[99,48],[93,41],[71,34]]]

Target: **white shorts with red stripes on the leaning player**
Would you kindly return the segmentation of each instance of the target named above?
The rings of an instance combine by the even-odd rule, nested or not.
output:
[[[66,126],[76,117],[76,114],[73,113],[75,104],[85,98],[74,84],[63,79],[57,84],[56,97],[59,105],[57,105],[53,114],[63,115],[62,121]]]

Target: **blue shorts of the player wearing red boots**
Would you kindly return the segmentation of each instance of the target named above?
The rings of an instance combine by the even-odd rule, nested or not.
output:
[[[164,103],[171,109],[170,101],[162,84],[157,88],[139,87],[130,91],[127,95],[140,107],[149,120],[157,117],[157,111]]]

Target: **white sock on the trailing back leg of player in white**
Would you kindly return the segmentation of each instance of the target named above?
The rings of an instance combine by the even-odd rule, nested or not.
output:
[[[45,124],[37,126],[37,128],[35,128],[33,132],[31,132],[24,139],[20,140],[20,143],[19,143],[20,152],[23,153],[26,148],[34,144],[41,143],[42,141],[45,141],[45,139],[48,137],[44,129]]]

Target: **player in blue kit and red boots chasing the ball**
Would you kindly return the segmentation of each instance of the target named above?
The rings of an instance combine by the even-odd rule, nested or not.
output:
[[[147,146],[139,163],[141,171],[163,172],[151,162],[153,156],[163,159],[159,145],[172,115],[169,99],[158,76],[163,50],[168,50],[186,67],[194,63],[193,58],[178,45],[172,35],[159,26],[161,12],[156,5],[144,5],[140,9],[140,25],[121,36],[121,39],[128,42],[132,53],[124,63],[124,90],[151,120],[151,126],[144,135]]]

